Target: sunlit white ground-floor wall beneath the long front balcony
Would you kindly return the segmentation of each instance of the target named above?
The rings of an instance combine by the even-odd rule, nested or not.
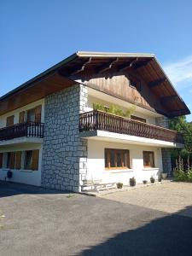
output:
[[[129,149],[131,169],[105,170],[104,148]],[[143,168],[143,150],[154,151],[155,168]],[[160,148],[88,140],[87,179],[128,184],[129,178],[135,177],[137,183],[143,183],[144,179],[149,181],[151,176],[157,179],[160,172],[162,172]]]

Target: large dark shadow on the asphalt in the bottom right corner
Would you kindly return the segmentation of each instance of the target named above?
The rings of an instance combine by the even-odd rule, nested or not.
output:
[[[192,207],[114,236],[76,255],[82,256],[190,256]]]

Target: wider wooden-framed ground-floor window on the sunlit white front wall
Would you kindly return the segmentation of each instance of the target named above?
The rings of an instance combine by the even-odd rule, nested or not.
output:
[[[130,152],[126,149],[105,148],[105,168],[130,168]]]

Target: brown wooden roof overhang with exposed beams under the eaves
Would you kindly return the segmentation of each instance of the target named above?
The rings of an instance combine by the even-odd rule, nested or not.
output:
[[[44,98],[55,91],[78,84],[84,77],[137,70],[150,90],[160,99],[169,117],[189,114],[189,108],[177,94],[160,63],[150,54],[77,52],[34,79],[0,98],[0,114]]]

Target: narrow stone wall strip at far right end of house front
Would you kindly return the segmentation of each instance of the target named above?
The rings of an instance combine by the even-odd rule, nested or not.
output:
[[[156,125],[168,128],[169,119],[166,117],[156,118]],[[172,173],[171,151],[172,149],[170,148],[161,148],[163,172],[168,173],[168,176]]]

